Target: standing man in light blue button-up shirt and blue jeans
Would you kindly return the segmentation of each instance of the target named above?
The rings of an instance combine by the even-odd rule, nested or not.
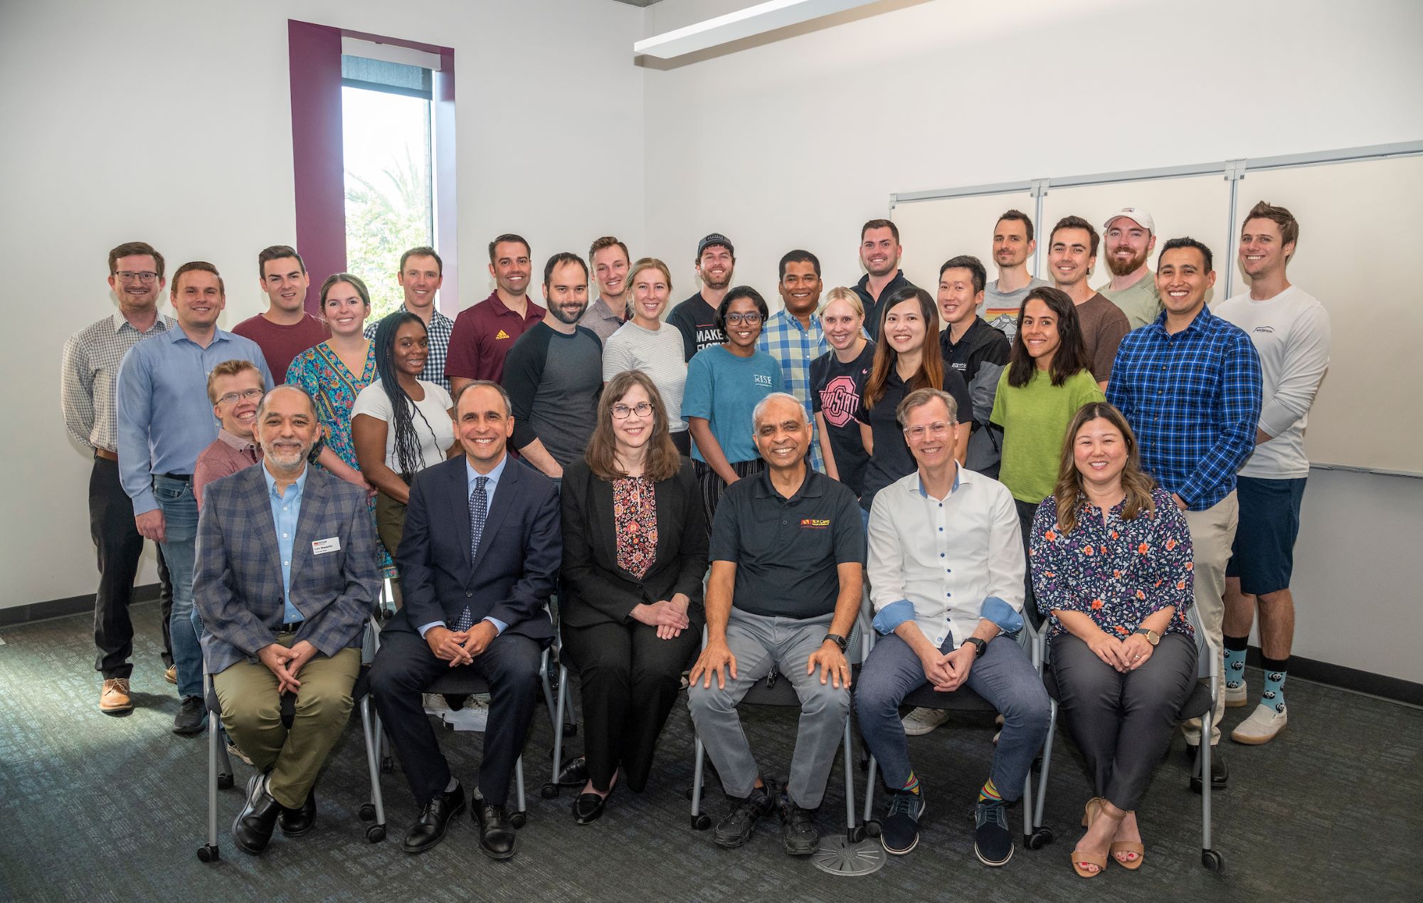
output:
[[[178,328],[135,345],[118,372],[118,470],[138,531],[162,546],[172,575],[169,627],[182,698],[174,734],[192,735],[202,734],[208,718],[198,645],[202,624],[192,607],[198,540],[192,474],[198,454],[218,437],[203,389],[223,360],[252,362],[263,385],[272,385],[272,373],[256,342],[218,329],[228,296],[216,266],[205,261],[179,266],[171,299]]]

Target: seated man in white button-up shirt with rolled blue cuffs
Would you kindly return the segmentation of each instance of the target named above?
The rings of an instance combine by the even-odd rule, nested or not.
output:
[[[895,416],[918,470],[881,490],[869,511],[869,595],[879,640],[855,692],[859,731],[884,769],[885,850],[919,842],[924,788],[909,765],[899,704],[929,684],[968,687],[1003,715],[1003,734],[979,790],[973,852],[990,866],[1013,856],[1006,803],[1017,799],[1047,735],[1042,679],[1012,637],[1023,628],[1023,543],[1013,496],[953,460],[953,397],[905,396]]]

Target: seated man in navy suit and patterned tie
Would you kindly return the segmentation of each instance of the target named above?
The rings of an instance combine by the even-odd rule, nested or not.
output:
[[[558,489],[508,457],[509,397],[491,382],[455,400],[465,456],[416,474],[396,553],[404,608],[381,631],[371,689],[410,781],[420,818],[406,852],[440,843],[465,806],[420,695],[448,668],[490,682],[490,721],[474,796],[480,849],[514,855],[504,802],[539,692],[539,658],[554,638],[548,600],[562,561]]]

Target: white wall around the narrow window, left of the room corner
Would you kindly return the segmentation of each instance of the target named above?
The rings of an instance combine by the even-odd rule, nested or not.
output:
[[[222,323],[263,309],[258,249],[295,241],[289,17],[453,46],[462,303],[492,288],[485,244],[542,259],[643,236],[642,10],[586,0],[134,0],[0,7],[0,245],[10,348],[0,607],[94,591],[90,460],[64,432],[60,349],[114,309],[105,254],[155,245],[225,273]],[[591,85],[603,97],[593,98]],[[598,100],[598,103],[592,103]],[[317,279],[324,273],[313,273]],[[164,310],[168,306],[164,305]],[[453,312],[453,310],[451,310]],[[142,583],[154,580],[145,565]]]

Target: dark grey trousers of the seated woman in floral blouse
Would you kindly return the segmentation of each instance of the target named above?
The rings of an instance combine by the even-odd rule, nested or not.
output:
[[[1053,677],[1063,721],[1087,759],[1093,792],[1136,812],[1171,743],[1195,678],[1195,641],[1167,634],[1151,658],[1120,674],[1069,632],[1053,637]]]

